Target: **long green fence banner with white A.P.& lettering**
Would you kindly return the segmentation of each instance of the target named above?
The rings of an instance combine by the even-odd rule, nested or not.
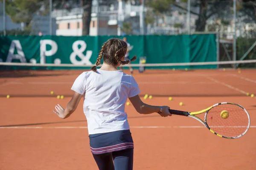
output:
[[[0,62],[92,65],[101,46],[118,36],[0,36]],[[215,34],[126,36],[133,46],[130,57],[146,57],[147,63],[216,61]],[[133,64],[139,63],[137,59]],[[0,65],[5,69],[3,65]],[[216,68],[216,65],[186,66]],[[75,69],[76,67],[67,67]],[[166,67],[164,67],[166,68]],[[178,67],[171,67],[178,68]],[[12,67],[17,69],[17,67]],[[48,68],[49,69],[49,68]],[[57,69],[51,67],[51,69]]]

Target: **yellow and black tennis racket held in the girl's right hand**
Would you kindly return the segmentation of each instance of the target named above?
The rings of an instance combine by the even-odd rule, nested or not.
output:
[[[169,109],[175,115],[192,117],[205,125],[217,136],[236,139],[243,136],[250,127],[249,113],[236,103],[221,102],[202,111],[186,112]],[[205,113],[204,121],[195,115]]]

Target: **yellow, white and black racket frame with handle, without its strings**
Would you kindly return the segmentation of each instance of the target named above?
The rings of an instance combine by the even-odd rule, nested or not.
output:
[[[248,116],[248,125],[247,125],[247,128],[246,128],[246,130],[245,130],[242,134],[240,134],[239,136],[233,136],[233,137],[223,136],[223,135],[220,135],[220,134],[214,132],[214,131],[208,126],[207,121],[206,121],[206,117],[207,117],[207,113],[209,112],[209,110],[211,110],[211,109],[212,109],[213,107],[215,107],[215,106],[223,105],[223,104],[231,104],[231,105],[239,106],[239,107],[242,108],[242,109],[244,110],[244,112],[247,114],[247,116]],[[217,136],[219,136],[219,137],[227,138],[227,139],[237,139],[237,138],[243,136],[243,135],[248,131],[248,129],[249,129],[249,127],[250,127],[250,115],[249,115],[249,113],[247,112],[247,110],[246,110],[244,107],[242,107],[241,105],[236,104],[236,103],[232,103],[232,102],[216,103],[215,105],[212,105],[212,106],[210,106],[209,108],[206,108],[206,109],[201,110],[201,111],[196,111],[196,112],[177,111],[177,110],[171,110],[171,109],[169,109],[169,111],[170,111],[170,113],[175,114],[175,115],[192,117],[192,118],[198,120],[199,122],[201,122],[205,127],[207,127],[207,128],[208,128],[212,133],[214,133],[215,135],[217,135]],[[205,115],[204,115],[204,121],[205,121],[205,122],[204,122],[202,119],[200,119],[199,117],[195,116],[195,115],[198,115],[198,114],[201,114],[201,113],[204,113],[204,112],[206,112]]]

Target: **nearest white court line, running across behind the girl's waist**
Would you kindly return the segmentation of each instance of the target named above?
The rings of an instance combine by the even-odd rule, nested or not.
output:
[[[218,127],[218,126],[217,126]],[[232,126],[234,128],[247,126]],[[9,126],[0,129],[87,129],[87,126]],[[162,129],[162,128],[206,128],[205,126],[131,126],[131,129]],[[250,126],[256,128],[256,126]]]

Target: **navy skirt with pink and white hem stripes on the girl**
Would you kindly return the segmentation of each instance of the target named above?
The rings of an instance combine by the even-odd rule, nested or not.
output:
[[[89,139],[90,150],[95,155],[134,148],[130,130],[90,134]]]

